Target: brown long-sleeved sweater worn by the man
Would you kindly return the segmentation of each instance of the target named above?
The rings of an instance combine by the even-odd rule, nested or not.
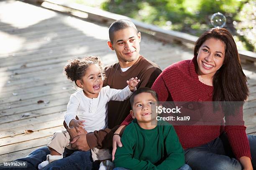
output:
[[[119,62],[105,67],[107,78],[103,86],[109,85],[110,88],[123,89],[127,86],[126,80],[132,77],[138,77],[141,81],[136,86],[151,87],[156,78],[161,73],[161,69],[154,62],[151,62],[140,56],[136,63],[127,71],[122,72]],[[87,143],[90,148],[110,148],[115,130],[125,120],[131,110],[130,99],[123,102],[110,101],[108,103],[108,128],[105,130],[96,130],[94,133],[88,133]]]

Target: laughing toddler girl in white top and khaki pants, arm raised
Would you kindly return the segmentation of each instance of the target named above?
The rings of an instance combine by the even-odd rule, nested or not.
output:
[[[64,72],[68,79],[82,89],[70,96],[64,116],[68,128],[75,128],[77,135],[83,132],[82,128],[88,133],[108,128],[108,102],[127,99],[140,81],[137,77],[131,78],[122,90],[111,89],[109,86],[102,87],[105,72],[99,57],[69,60],[64,67]],[[39,164],[38,169],[43,169],[54,160],[63,158],[65,147],[74,150],[70,141],[72,141],[71,135],[66,130],[54,133],[51,142],[47,145],[51,155],[47,155],[47,160]],[[105,164],[113,164],[108,161],[111,159],[109,150],[93,148],[91,152],[94,161],[107,160]],[[101,168],[106,168],[102,163],[100,165],[102,165]]]

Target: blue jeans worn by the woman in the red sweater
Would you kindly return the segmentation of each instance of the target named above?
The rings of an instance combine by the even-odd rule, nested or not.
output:
[[[256,169],[256,136],[247,136],[253,169]],[[233,155],[225,133],[205,145],[186,149],[185,162],[193,170],[242,170],[242,165]]]

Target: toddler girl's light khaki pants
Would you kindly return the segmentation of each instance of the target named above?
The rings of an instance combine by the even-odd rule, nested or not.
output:
[[[47,145],[50,148],[53,148],[61,155],[64,153],[64,149],[75,150],[71,146],[72,139],[67,130],[61,130],[54,133],[53,137],[51,138],[51,142]],[[98,149],[92,148],[92,160],[107,160],[111,159],[112,156],[110,154],[109,149]]]

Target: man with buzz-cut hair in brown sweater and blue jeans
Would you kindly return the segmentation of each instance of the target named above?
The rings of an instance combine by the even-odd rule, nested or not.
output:
[[[141,33],[136,26],[129,20],[117,20],[110,25],[108,46],[115,50],[118,62],[105,67],[106,79],[103,86],[109,85],[110,88],[123,89],[127,84],[126,80],[131,77],[138,77],[141,81],[137,85],[140,87],[151,87],[161,73],[158,65],[146,60],[139,54]],[[123,102],[110,101],[108,104],[108,128],[95,131],[94,133],[76,134],[74,129],[68,129],[73,138],[73,148],[78,149],[70,156],[61,160],[56,160],[46,166],[45,169],[92,169],[97,168],[98,163],[94,163],[91,158],[90,149],[111,148],[112,138],[115,130],[123,122],[131,110],[129,99]],[[77,137],[75,137],[77,136]],[[82,152],[86,151],[86,152]],[[18,160],[28,161],[30,169],[36,169],[38,164],[46,159],[49,154],[47,147],[33,151],[26,158]]]

